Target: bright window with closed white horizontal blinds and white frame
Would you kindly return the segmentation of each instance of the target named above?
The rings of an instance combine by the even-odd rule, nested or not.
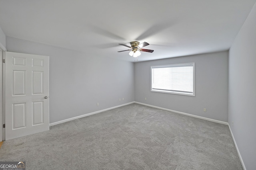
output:
[[[151,66],[151,91],[195,96],[195,63]]]

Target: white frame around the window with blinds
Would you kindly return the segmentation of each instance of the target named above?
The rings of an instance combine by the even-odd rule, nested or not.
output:
[[[179,67],[179,66],[193,66],[193,93],[186,92],[177,92],[170,90],[153,90],[152,89],[152,68],[166,68],[166,67]],[[159,92],[159,93],[168,93],[168,94],[179,94],[185,96],[196,96],[195,94],[195,63],[181,63],[181,64],[168,64],[168,65],[158,65],[158,66],[150,66],[150,91],[151,92]]]

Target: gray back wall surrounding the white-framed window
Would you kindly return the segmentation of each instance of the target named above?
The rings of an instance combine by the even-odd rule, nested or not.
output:
[[[150,92],[150,66],[193,62],[195,97]],[[227,122],[228,51],[135,63],[135,101]]]

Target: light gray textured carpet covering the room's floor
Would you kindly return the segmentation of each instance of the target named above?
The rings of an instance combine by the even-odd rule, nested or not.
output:
[[[242,170],[227,125],[139,104],[5,141],[26,170]]]

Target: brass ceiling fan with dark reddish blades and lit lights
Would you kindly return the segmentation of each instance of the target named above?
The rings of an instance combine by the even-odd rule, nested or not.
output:
[[[129,55],[132,57],[138,57],[140,55],[140,51],[149,52],[149,53],[153,53],[153,51],[154,51],[154,50],[142,49],[142,47],[149,45],[149,43],[147,43],[147,42],[140,44],[139,41],[132,41],[132,42],[130,42],[131,47],[128,45],[125,45],[125,44],[119,44],[119,45],[123,45],[125,47],[131,48],[128,50],[123,50],[123,51],[130,51]],[[118,52],[123,52],[123,51],[118,51]]]

